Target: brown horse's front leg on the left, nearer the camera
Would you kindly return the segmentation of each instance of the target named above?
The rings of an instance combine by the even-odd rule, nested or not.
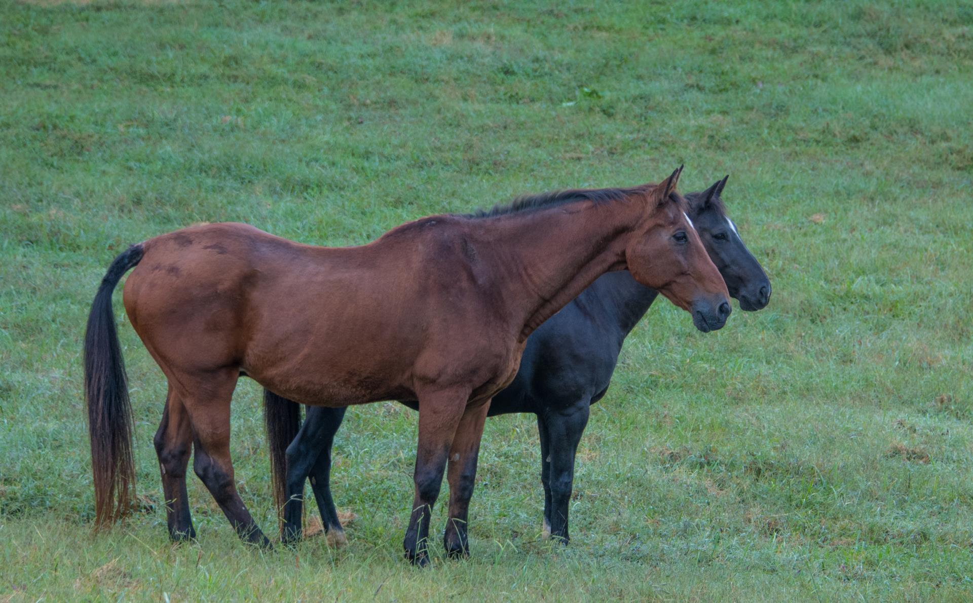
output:
[[[439,496],[443,472],[456,427],[469,400],[470,389],[417,392],[419,443],[415,451],[415,498],[403,545],[415,565],[429,563],[429,518]]]

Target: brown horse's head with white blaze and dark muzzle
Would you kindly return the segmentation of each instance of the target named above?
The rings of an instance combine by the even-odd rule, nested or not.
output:
[[[715,331],[730,316],[730,294],[703,241],[675,192],[682,167],[645,190],[645,215],[625,250],[631,275],[693,315],[703,333]]]

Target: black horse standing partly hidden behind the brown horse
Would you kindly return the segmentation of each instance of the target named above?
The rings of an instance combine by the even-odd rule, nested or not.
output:
[[[759,310],[770,301],[771,283],[726,215],[721,199],[726,181],[724,178],[702,193],[685,195],[688,216],[730,295],[739,300],[740,308]],[[537,415],[544,529],[564,543],[568,541],[574,457],[591,405],[608,391],[623,341],[658,295],[635,282],[628,271],[602,275],[528,338],[520,372],[490,403],[488,416],[508,412]],[[274,487],[284,509],[282,539],[301,537],[302,497],[305,479],[310,477],[328,542],[343,544],[330,471],[331,448],[344,408],[309,407],[306,421],[300,425],[299,405],[269,391],[264,400]],[[416,402],[402,404],[418,408]],[[286,479],[281,475],[285,470]],[[472,481],[468,487],[472,489]],[[462,550],[468,550],[465,542]]]

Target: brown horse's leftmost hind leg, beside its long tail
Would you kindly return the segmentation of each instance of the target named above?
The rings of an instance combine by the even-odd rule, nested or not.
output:
[[[159,470],[162,473],[162,495],[165,498],[165,522],[169,538],[182,541],[196,538],[186,492],[186,467],[193,445],[193,427],[182,400],[169,385],[162,410],[162,423],[153,439]]]

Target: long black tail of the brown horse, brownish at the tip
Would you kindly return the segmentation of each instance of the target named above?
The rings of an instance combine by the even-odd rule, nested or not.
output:
[[[142,251],[141,244],[132,245],[108,267],[91,302],[85,332],[85,400],[88,404],[96,527],[125,515],[134,497],[135,464],[131,456],[128,378],[115,329],[112,292],[122,275],[142,259]]]

